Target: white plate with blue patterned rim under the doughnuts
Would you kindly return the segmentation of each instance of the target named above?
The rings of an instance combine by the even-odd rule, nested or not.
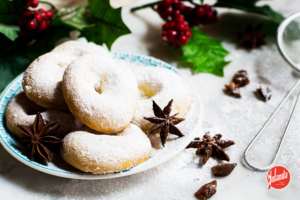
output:
[[[120,59],[124,62],[130,62],[139,65],[140,67],[163,67],[167,68],[171,71],[182,76],[189,84],[189,80],[182,75],[175,68],[170,66],[169,64],[143,55],[135,55],[129,53],[114,53],[115,59]],[[92,174],[81,172],[72,166],[65,163],[59,154],[54,154],[53,162],[51,163],[38,163],[30,161],[26,156],[22,155],[19,143],[17,142],[17,138],[15,138],[12,134],[9,133],[8,129],[5,125],[5,110],[10,102],[10,100],[18,93],[22,91],[22,78],[23,74],[19,75],[15,78],[3,91],[0,96],[0,142],[3,147],[17,160],[24,163],[25,165],[34,168],[38,171],[51,174],[54,176],[64,177],[64,178],[73,178],[73,179],[109,179],[109,178],[117,178],[122,176],[128,176],[135,173],[139,173],[148,169],[151,169],[159,164],[166,162],[172,157],[176,156],[179,152],[181,152],[185,147],[193,140],[195,134],[200,129],[202,119],[203,119],[203,108],[201,99],[199,97],[198,92],[191,85],[191,87],[195,90],[194,99],[192,109],[190,109],[188,115],[185,117],[185,121],[178,125],[178,127],[183,130],[184,137],[176,138],[167,141],[166,147],[162,149],[153,149],[153,153],[150,158],[126,171],[115,172],[110,174]]]

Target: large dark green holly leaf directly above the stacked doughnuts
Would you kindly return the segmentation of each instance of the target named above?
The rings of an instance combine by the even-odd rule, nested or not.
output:
[[[114,41],[131,33],[122,20],[122,8],[113,9],[109,0],[89,0],[89,11],[95,23],[82,31],[82,36],[96,44],[106,44],[110,49]]]

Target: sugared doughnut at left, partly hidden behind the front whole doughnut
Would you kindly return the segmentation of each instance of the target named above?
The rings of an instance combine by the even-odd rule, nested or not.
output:
[[[27,97],[46,108],[68,110],[61,81],[65,69],[75,59],[70,54],[50,52],[33,61],[22,82]]]

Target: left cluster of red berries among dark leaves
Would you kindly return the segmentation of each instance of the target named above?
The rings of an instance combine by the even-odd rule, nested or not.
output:
[[[23,18],[19,25],[22,36],[34,36],[50,27],[53,18],[52,11],[44,9],[27,10],[23,13]]]

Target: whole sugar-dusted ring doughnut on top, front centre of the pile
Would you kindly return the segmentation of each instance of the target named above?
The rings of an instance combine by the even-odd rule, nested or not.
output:
[[[72,62],[63,77],[71,112],[85,125],[116,133],[132,120],[138,101],[134,74],[113,59],[85,55]]]

